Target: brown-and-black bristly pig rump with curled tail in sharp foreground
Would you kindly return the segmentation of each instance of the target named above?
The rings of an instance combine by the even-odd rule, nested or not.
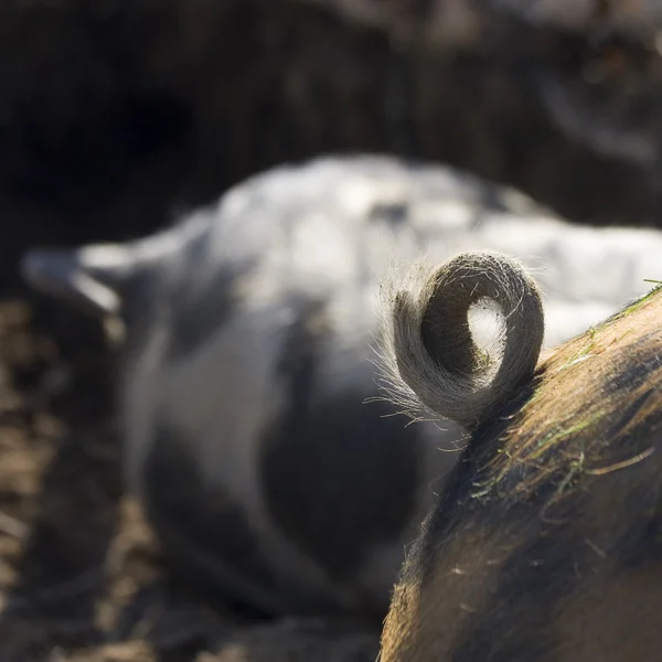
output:
[[[484,373],[495,369],[457,301],[418,269],[385,316],[392,395],[451,416],[471,438],[407,554],[381,662],[659,660],[662,287],[557,348],[487,408]],[[517,309],[499,372],[514,365],[508,335],[522,325],[519,360],[535,364],[533,303]]]

